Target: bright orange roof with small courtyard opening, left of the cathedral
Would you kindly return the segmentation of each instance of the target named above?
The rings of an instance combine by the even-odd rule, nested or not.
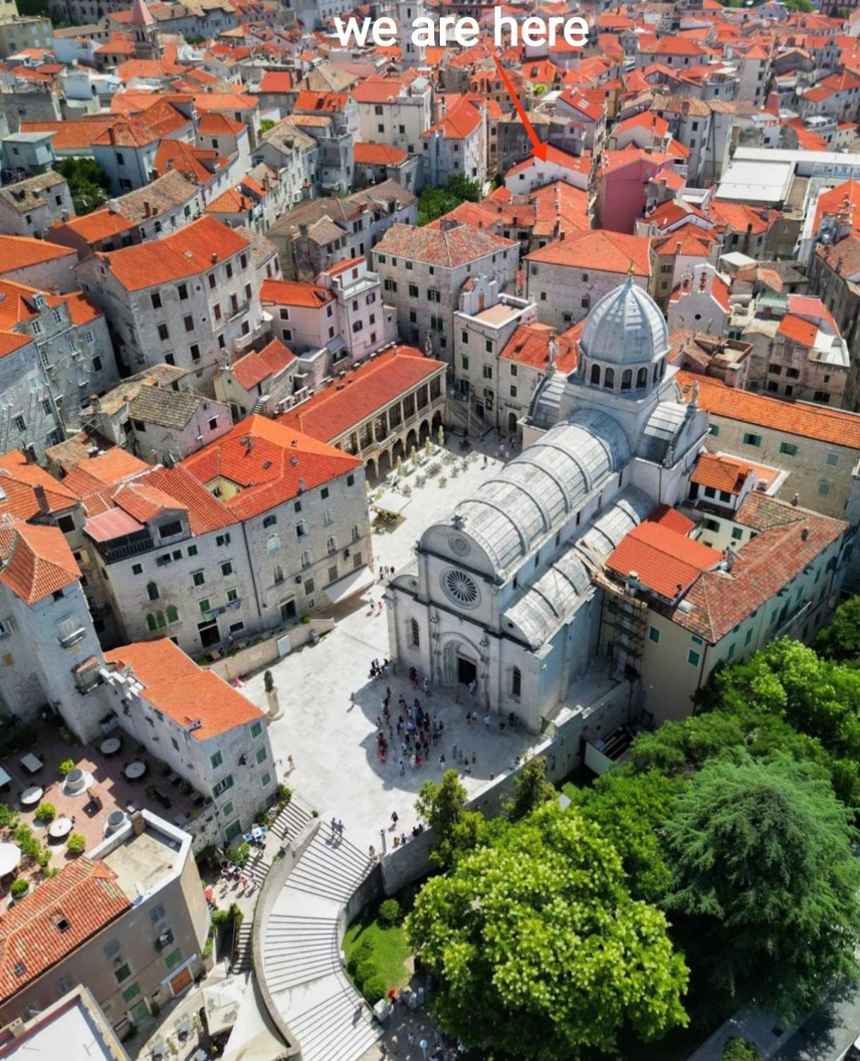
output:
[[[303,490],[361,467],[358,457],[296,430],[287,422],[291,416],[277,421],[249,416],[222,438],[186,457],[179,467],[204,484],[221,477],[239,486],[225,502],[236,520],[259,516]]]

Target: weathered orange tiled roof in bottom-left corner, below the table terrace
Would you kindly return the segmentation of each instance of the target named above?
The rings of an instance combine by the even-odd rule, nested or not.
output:
[[[104,863],[76,858],[0,919],[0,999],[5,1002],[94,936],[131,903]],[[60,932],[57,921],[68,927]]]

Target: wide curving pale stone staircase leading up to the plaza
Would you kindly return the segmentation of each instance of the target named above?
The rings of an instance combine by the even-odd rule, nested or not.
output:
[[[310,819],[294,799],[273,829],[294,838]],[[358,1061],[383,1032],[344,972],[338,925],[372,864],[349,840],[329,834],[320,823],[275,901],[262,973],[302,1061]]]

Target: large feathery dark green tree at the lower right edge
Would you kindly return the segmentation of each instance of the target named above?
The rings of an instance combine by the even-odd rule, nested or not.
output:
[[[860,865],[822,771],[745,751],[706,763],[666,824],[666,908],[694,977],[732,1006],[790,1017],[857,977]]]

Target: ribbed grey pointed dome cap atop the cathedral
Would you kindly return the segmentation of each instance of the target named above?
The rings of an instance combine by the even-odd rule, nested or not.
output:
[[[579,345],[604,364],[643,365],[665,355],[669,331],[656,302],[629,276],[589,313]]]

